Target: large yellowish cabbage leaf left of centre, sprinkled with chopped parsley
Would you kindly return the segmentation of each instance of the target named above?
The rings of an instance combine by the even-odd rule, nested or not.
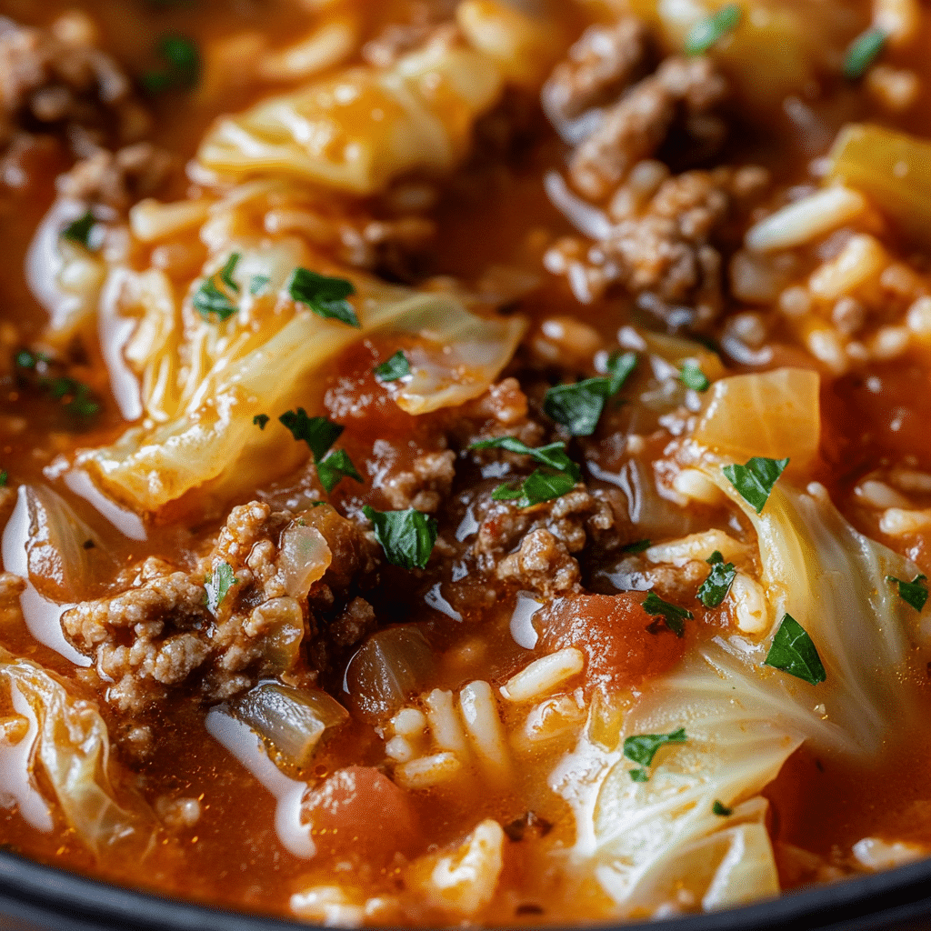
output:
[[[230,275],[238,306],[224,320],[196,313],[197,281],[179,299],[157,269],[114,273],[121,314],[139,317],[125,359],[142,385],[145,420],[112,445],[82,452],[79,462],[104,491],[140,510],[155,511],[205,483],[233,494],[298,466],[303,447],[284,431],[255,429],[253,420],[312,407],[322,392],[316,372],[358,339],[403,338],[411,378],[396,399],[419,414],[478,397],[525,329],[520,317],[481,317],[452,293],[416,293],[355,272],[340,274],[355,288],[360,329],[318,317],[287,293],[293,269],[314,262],[297,238],[227,243],[197,280],[218,274],[236,253]],[[252,294],[257,276],[267,285]]]

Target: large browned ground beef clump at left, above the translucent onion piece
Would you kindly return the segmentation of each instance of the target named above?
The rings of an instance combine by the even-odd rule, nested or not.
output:
[[[295,521],[316,527],[331,550],[331,568],[305,600],[289,594],[278,542]],[[223,562],[236,583],[214,613],[205,580]],[[302,641],[319,658],[314,643],[321,634],[344,647],[371,629],[371,605],[349,593],[357,573],[371,574],[374,567],[365,535],[331,507],[295,517],[253,501],[233,508],[193,572],[145,560],[120,580],[120,594],[77,605],[62,626],[111,683],[106,700],[120,711],[152,708],[181,686],[220,701],[264,676],[313,681],[315,668],[305,668]],[[335,614],[331,634],[323,614]]]

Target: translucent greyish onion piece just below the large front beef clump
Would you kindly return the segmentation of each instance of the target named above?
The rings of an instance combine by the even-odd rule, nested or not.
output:
[[[263,682],[229,703],[239,721],[248,724],[277,750],[281,762],[304,769],[324,733],[349,720],[349,713],[321,689],[296,689]]]

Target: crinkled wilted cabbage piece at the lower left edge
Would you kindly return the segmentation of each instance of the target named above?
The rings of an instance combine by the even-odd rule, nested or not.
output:
[[[19,755],[24,772],[15,776],[20,786],[33,798],[57,803],[68,828],[98,857],[138,860],[152,850],[158,823],[140,797],[123,792],[117,801],[110,738],[92,703],[69,695],[36,663],[2,649],[0,701],[30,724],[22,737],[30,742],[28,752]]]

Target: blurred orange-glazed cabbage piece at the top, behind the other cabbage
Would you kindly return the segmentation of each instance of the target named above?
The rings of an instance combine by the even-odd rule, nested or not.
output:
[[[371,195],[412,169],[452,169],[503,86],[490,56],[444,36],[390,69],[351,68],[220,120],[197,160],[219,181],[276,175]]]

